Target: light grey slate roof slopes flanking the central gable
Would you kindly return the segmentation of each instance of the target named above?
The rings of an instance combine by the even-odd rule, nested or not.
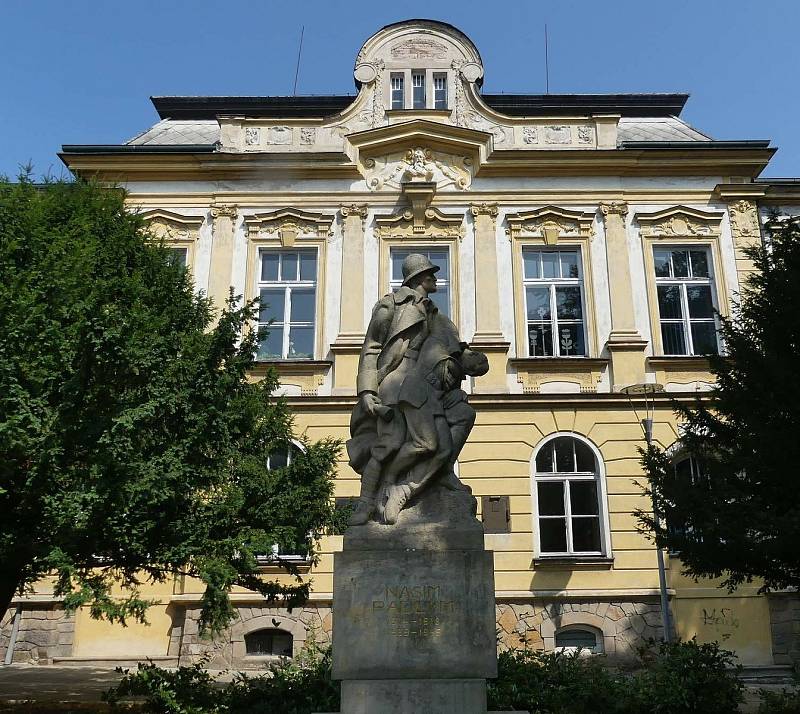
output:
[[[219,124],[215,119],[162,119],[126,141],[129,146],[181,146],[215,144]],[[711,141],[711,138],[677,117],[622,117],[620,144],[626,141]]]

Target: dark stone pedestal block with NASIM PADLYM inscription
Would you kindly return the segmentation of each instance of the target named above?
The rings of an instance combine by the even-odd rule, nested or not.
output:
[[[495,676],[492,554],[335,556],[336,679]]]

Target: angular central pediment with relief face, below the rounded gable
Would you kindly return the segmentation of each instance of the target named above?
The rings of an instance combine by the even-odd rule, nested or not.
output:
[[[459,191],[491,153],[492,136],[420,119],[350,134],[345,150],[372,191],[414,181]]]

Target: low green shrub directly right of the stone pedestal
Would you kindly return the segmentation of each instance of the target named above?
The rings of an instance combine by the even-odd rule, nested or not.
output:
[[[531,714],[624,714],[625,684],[603,657],[580,653],[502,652],[497,679],[489,682],[492,710],[528,710]]]

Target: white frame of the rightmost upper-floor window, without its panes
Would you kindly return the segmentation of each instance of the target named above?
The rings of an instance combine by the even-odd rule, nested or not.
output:
[[[658,252],[669,252],[669,270],[670,276],[669,277],[659,277],[655,274],[655,266],[656,266],[656,253]],[[706,264],[708,265],[708,277],[694,277],[692,275],[692,262],[691,257],[687,255],[687,265],[688,265],[688,277],[675,277],[675,269],[673,266],[672,261],[672,252],[673,251],[682,251],[687,254],[691,253],[692,251],[695,252],[703,252],[706,255]],[[714,265],[714,256],[710,246],[707,245],[691,245],[682,243],[680,245],[655,245],[653,246],[653,276],[655,278],[655,300],[656,300],[656,310],[658,312],[658,331],[661,335],[661,351],[665,356],[668,357],[698,357],[702,356],[702,353],[698,353],[694,349],[694,339],[692,337],[692,329],[691,326],[693,323],[703,323],[703,324],[712,324],[715,330],[715,339],[717,343],[717,353],[721,353],[722,351],[722,344],[720,340],[719,333],[716,332],[719,329],[719,320],[717,319],[717,312],[719,311],[719,305],[717,304],[717,288],[714,280],[714,276],[716,275],[716,266]],[[709,292],[711,293],[711,305],[713,309],[712,316],[710,318],[692,318],[689,315],[689,297],[687,290],[688,288],[700,285],[704,287],[708,287]],[[681,304],[681,317],[668,317],[662,318],[661,317],[661,305],[659,304],[658,299],[658,289],[659,287],[677,287],[680,291],[680,304]],[[670,325],[677,325],[680,324],[683,327],[683,340],[684,346],[686,351],[680,354],[676,354],[674,352],[667,353],[666,344],[664,341],[664,335],[661,332],[661,326],[663,324],[670,324]]]

